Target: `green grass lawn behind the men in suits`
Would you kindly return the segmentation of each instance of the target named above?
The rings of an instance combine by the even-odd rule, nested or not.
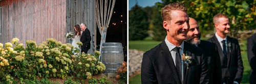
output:
[[[208,39],[208,38],[202,38],[202,39]],[[129,40],[129,49],[137,49],[140,51],[148,51],[150,49],[152,49],[153,47],[157,46],[158,44],[160,44],[161,41],[154,41],[151,39],[146,39],[146,40]],[[243,50],[241,52],[241,56],[242,56],[242,60],[243,60],[243,65],[244,65],[244,73],[243,73],[243,78],[241,83],[249,83],[249,75],[250,75],[250,70],[251,67],[249,65],[248,62],[248,58],[247,58],[247,51],[246,51],[246,46],[241,46],[241,50]],[[141,79],[140,79],[141,75],[137,74],[131,78],[129,78],[129,83],[141,83]]]

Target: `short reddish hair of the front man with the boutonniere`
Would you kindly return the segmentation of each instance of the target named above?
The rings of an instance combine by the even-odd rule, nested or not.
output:
[[[187,7],[181,3],[171,3],[162,8],[162,19],[163,21],[172,20],[170,13],[174,10],[179,10],[187,13]]]

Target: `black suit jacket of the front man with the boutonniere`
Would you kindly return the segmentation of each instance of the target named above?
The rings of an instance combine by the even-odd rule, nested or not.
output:
[[[183,64],[183,83],[208,83],[208,66],[203,50],[184,41],[185,54],[193,59],[187,66]],[[181,84],[179,75],[170,51],[163,41],[144,53],[141,64],[142,83],[178,83]]]

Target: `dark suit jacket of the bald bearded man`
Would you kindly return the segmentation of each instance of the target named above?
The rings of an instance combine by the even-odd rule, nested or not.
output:
[[[209,83],[221,83],[221,61],[216,44],[201,40],[198,47],[204,50],[207,59]]]

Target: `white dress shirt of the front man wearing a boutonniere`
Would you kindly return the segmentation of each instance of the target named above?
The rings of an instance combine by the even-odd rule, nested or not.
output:
[[[173,60],[174,60],[174,65],[176,66],[176,52],[174,51],[174,48],[177,47],[175,45],[173,45],[172,43],[170,43],[167,38],[165,37],[165,44],[167,45],[169,51],[170,51],[170,54],[172,55],[173,57]],[[180,56],[182,56],[183,54],[183,49],[184,49],[184,41],[182,42],[182,44],[179,46],[180,47]],[[182,58],[182,57],[180,57]],[[183,61],[181,60],[181,72],[182,72],[182,80],[183,80]]]

